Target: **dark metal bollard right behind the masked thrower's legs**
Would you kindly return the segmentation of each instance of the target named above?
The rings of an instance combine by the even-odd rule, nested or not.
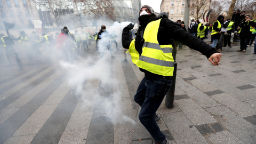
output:
[[[166,96],[165,96],[165,107],[166,108],[173,108],[176,73],[177,73],[177,62],[174,62],[172,85],[171,85],[171,88],[169,89],[169,91],[166,93]]]

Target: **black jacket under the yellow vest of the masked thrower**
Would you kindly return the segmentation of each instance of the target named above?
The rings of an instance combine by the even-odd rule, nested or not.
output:
[[[141,55],[142,46],[143,46],[143,43],[145,42],[145,40],[143,39],[143,31],[145,30],[149,22],[157,20],[158,18],[155,16],[155,14],[151,14],[150,18],[147,19],[148,21],[146,22],[146,25],[144,26],[143,24],[145,24],[145,22],[142,22],[140,20],[140,17],[139,17],[139,21],[140,21],[140,24],[142,25],[139,27],[138,35],[135,37],[135,49]],[[129,49],[132,41],[129,39],[129,30],[130,30],[129,27],[125,27],[123,29],[122,44],[125,49]],[[172,44],[172,39],[174,39],[175,41],[179,41],[183,45],[187,45],[193,48],[194,50],[201,52],[202,54],[206,55],[207,58],[209,58],[213,53],[217,52],[215,48],[213,48],[209,44],[206,44],[201,39],[193,35],[190,35],[184,29],[178,27],[173,21],[169,19],[162,19],[158,29],[157,41],[159,45],[169,45],[169,44]],[[150,73],[145,69],[140,68],[140,70],[143,71],[147,77],[151,77],[151,78],[163,77],[160,75]]]

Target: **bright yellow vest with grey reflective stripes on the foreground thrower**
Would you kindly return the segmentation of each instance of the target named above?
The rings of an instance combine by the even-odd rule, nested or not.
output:
[[[157,41],[160,21],[161,19],[148,23],[143,35],[145,43],[142,54],[135,64],[154,74],[172,76],[174,69],[172,45],[159,45]]]

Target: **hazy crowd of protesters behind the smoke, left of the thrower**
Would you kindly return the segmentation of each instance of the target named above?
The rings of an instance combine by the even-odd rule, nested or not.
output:
[[[45,55],[48,57],[53,56],[58,59],[71,61],[76,59],[77,55],[81,54],[81,49],[89,51],[92,42],[96,43],[96,49],[98,50],[98,41],[101,39],[101,33],[106,30],[106,27],[101,27],[99,33],[94,34],[86,31],[75,30],[75,33],[70,33],[69,29],[65,26],[60,30],[60,33],[47,35],[42,33],[41,36],[37,35],[35,31],[32,31],[30,35],[21,30],[19,37],[15,38],[13,35],[5,36],[0,34],[0,45],[3,48],[0,53],[0,62],[4,62],[5,58],[9,63],[9,66],[16,68],[17,57],[19,55],[25,55],[29,61],[38,61]],[[105,31],[105,33],[108,33]],[[111,51],[111,46],[115,43],[116,49],[118,44],[116,41],[117,35],[115,31],[111,31],[109,34],[108,49]],[[5,53],[5,58],[4,58]],[[111,56],[114,58],[113,54]]]

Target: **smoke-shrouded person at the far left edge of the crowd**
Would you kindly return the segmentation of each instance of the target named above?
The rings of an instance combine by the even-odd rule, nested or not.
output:
[[[4,34],[0,34],[0,44],[3,44],[3,48],[5,50],[5,57],[9,62],[9,66],[16,67],[13,65],[13,61],[15,61],[15,43],[11,37],[4,36]]]

